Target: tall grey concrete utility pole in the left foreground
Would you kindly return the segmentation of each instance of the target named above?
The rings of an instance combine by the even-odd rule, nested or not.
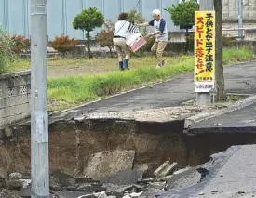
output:
[[[31,63],[31,197],[47,198],[47,0],[31,0]]]

